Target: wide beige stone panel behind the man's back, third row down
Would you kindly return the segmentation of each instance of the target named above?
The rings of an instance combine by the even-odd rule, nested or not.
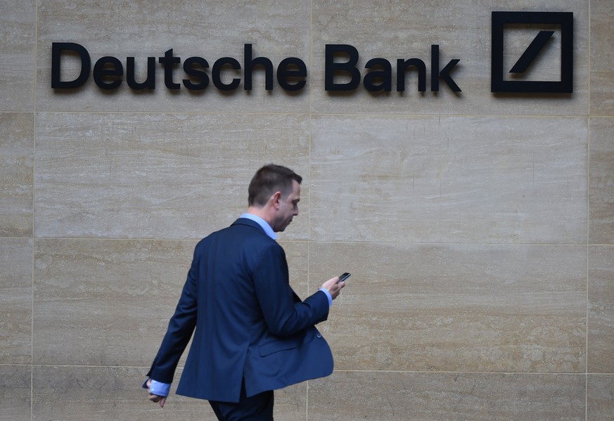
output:
[[[181,295],[195,245],[37,240],[34,363],[150,365]],[[283,247],[291,283],[305,296],[307,244],[286,242]]]

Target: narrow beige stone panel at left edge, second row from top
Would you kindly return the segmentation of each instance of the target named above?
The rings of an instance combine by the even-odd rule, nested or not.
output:
[[[31,237],[34,115],[0,113],[0,127],[0,237]]]

